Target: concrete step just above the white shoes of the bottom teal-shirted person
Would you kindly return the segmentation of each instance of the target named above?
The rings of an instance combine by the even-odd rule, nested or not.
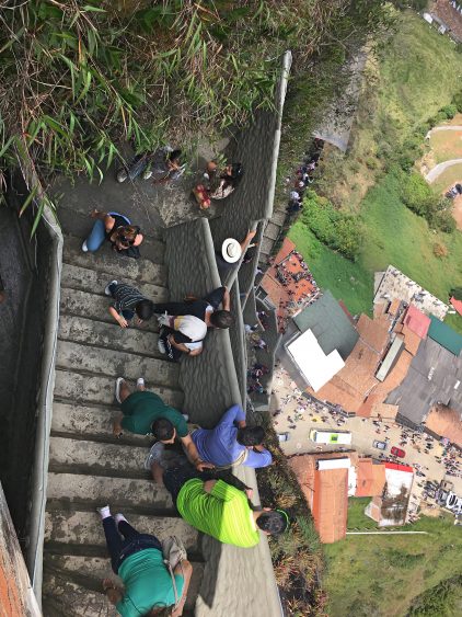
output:
[[[82,473],[48,473],[47,510],[73,507],[85,510],[109,503],[114,512],[124,507],[154,513],[173,510],[172,498],[164,487],[148,478],[127,479]],[[82,505],[85,507],[82,507]]]

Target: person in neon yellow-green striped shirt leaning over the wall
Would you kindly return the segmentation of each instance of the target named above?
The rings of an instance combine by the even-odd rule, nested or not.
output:
[[[159,460],[152,464],[153,476],[157,466],[161,468]],[[279,535],[288,527],[286,512],[253,507],[249,501],[251,489],[230,471],[198,473],[187,464],[162,471],[163,483],[181,516],[223,544],[250,548],[259,542],[259,530]]]

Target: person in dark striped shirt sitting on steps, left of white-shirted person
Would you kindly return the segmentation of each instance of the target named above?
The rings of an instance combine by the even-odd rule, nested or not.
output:
[[[109,313],[120,328],[128,328],[128,322],[137,315],[135,323],[141,324],[152,317],[153,304],[136,287],[111,281],[104,289],[106,296],[112,296],[115,302],[109,307]]]

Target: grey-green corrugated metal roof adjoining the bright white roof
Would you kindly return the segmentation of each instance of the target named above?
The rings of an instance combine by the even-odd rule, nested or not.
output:
[[[359,338],[348,317],[328,289],[293,321],[300,332],[311,330],[327,355],[337,350],[343,359],[351,353]]]

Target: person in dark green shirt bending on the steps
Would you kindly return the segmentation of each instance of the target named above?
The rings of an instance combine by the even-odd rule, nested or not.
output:
[[[165,404],[154,392],[148,392],[142,377],[137,381],[136,392],[130,392],[126,380],[118,377],[115,396],[122,407],[122,414],[113,426],[116,437],[123,434],[124,429],[139,435],[152,435],[162,444],[173,444],[178,437],[187,458],[198,471],[213,467],[199,457],[188,433],[185,416],[177,409]]]

